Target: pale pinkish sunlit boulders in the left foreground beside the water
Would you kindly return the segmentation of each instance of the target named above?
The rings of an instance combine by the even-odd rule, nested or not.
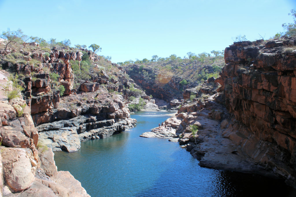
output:
[[[1,71],[0,78],[7,84]],[[52,150],[37,144],[31,110],[21,95],[8,101],[1,89],[0,195],[89,196],[70,172],[57,171]]]

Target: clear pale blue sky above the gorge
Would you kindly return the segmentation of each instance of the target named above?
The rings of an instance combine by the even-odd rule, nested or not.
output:
[[[112,62],[224,50],[284,32],[295,0],[0,0],[0,32],[100,45]]]

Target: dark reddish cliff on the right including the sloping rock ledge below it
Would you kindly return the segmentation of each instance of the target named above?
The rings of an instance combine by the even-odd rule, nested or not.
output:
[[[226,65],[209,98],[184,103],[179,142],[200,165],[284,178],[296,185],[296,39],[239,42],[225,49]],[[190,89],[184,98],[197,94]],[[214,93],[214,92],[213,92]],[[198,126],[192,135],[192,125]]]

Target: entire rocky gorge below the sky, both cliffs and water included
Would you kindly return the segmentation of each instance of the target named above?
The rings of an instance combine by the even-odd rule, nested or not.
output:
[[[242,41],[224,57],[142,65],[35,42],[0,50],[1,195],[183,196],[203,188],[191,195],[250,196],[259,179],[271,194],[281,185],[295,196],[295,45],[294,37]],[[170,176],[176,181],[165,183]],[[241,188],[239,177],[249,185]]]

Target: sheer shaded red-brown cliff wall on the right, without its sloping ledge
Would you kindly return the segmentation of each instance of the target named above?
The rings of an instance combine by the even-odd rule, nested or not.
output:
[[[226,65],[218,79],[227,110],[250,134],[273,147],[258,162],[292,185],[296,176],[295,44],[296,38],[234,43],[225,49]],[[255,150],[256,146],[248,148]]]

